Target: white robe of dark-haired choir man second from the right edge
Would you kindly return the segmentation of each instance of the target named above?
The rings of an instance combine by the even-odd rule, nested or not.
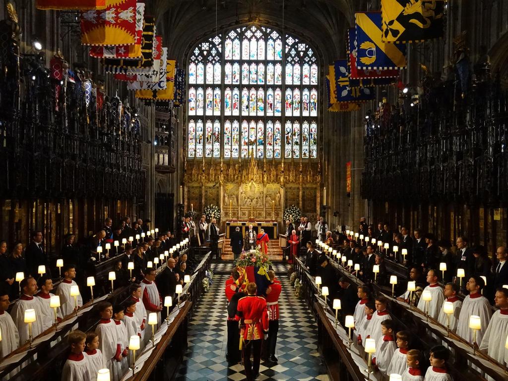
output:
[[[457,335],[470,343],[473,342],[473,330],[469,328],[469,316],[471,315],[480,316],[482,329],[476,333],[476,342],[481,343],[483,335],[489,326],[490,316],[492,315],[492,309],[487,298],[481,294],[473,294],[473,298],[471,298],[471,295],[468,295],[462,302],[457,325]]]

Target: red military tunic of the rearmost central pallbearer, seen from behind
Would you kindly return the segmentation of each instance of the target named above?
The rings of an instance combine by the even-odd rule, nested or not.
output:
[[[238,301],[236,308],[240,321],[245,328],[241,337],[244,340],[263,339],[268,332],[268,312],[266,300],[256,295],[246,296]]]

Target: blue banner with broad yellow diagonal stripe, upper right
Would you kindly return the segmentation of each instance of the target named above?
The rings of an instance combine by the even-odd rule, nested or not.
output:
[[[406,46],[381,40],[381,12],[355,13],[356,67],[367,70],[405,68]]]

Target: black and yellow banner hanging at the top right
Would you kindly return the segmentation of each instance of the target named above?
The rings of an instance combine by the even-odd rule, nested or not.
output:
[[[443,37],[443,0],[381,0],[383,42],[420,42]]]

